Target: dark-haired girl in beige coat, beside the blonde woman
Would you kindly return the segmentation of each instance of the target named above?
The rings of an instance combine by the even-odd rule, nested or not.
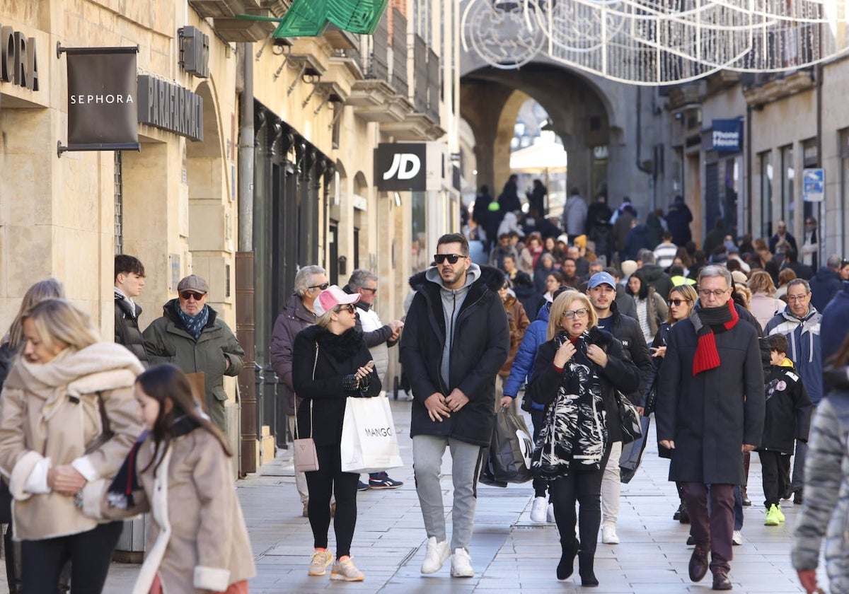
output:
[[[246,594],[256,569],[224,436],[199,411],[188,378],[173,365],[138,376],[136,400],[147,431],[102,506],[113,518],[151,512],[133,594]]]

